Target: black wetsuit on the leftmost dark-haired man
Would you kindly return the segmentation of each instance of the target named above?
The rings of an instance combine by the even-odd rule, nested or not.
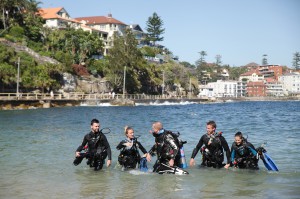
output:
[[[111,160],[111,149],[106,136],[102,132],[91,131],[84,136],[82,144],[76,151],[81,152],[86,144],[88,145],[88,164],[95,167],[95,170],[102,169],[105,158],[108,156],[108,160]]]

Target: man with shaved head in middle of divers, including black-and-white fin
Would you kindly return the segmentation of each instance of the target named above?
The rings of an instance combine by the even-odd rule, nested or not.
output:
[[[146,158],[148,161],[151,161],[151,156],[154,154],[157,155],[153,172],[159,174],[188,174],[187,171],[180,168],[181,155],[178,152],[184,142],[178,139],[178,135],[165,130],[161,122],[154,122],[152,124],[151,133],[155,137],[155,144],[150,149]]]

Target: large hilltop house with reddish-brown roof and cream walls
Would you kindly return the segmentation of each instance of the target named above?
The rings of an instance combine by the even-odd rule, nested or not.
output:
[[[113,18],[112,14],[108,14],[108,16],[78,17],[75,19],[88,27],[106,33],[104,55],[107,55],[109,49],[113,46],[113,35],[123,36],[127,27],[125,23]]]

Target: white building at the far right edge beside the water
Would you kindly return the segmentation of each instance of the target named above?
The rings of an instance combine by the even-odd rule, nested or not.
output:
[[[283,85],[285,95],[300,94],[300,74],[288,73],[279,76],[278,81]]]

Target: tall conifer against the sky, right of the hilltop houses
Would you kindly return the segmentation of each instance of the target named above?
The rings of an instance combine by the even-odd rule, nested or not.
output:
[[[146,25],[148,41],[152,41],[155,44],[157,41],[164,40],[164,37],[161,36],[165,32],[165,29],[163,28],[164,22],[156,12],[153,13],[152,17],[148,18]]]

